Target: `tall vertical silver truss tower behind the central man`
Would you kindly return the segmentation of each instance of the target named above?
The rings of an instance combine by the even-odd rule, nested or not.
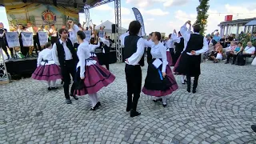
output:
[[[122,62],[122,46],[119,42],[119,37],[122,34],[121,21],[121,0],[114,0],[114,15],[115,15],[115,47],[117,54],[117,62]]]

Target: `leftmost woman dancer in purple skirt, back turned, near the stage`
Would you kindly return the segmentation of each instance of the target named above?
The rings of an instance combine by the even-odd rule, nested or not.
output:
[[[46,49],[42,50],[38,55],[38,68],[34,70],[32,78],[40,81],[47,81],[48,90],[56,90],[56,80],[61,79],[61,68],[54,62],[52,56],[52,45],[50,42],[46,43]],[[52,85],[50,86],[50,82]]]

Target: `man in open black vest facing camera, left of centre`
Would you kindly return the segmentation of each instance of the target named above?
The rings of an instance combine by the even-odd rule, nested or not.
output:
[[[60,34],[60,39],[58,42],[54,43],[53,46],[53,58],[54,62],[61,66],[62,70],[62,80],[64,82],[64,94],[66,98],[66,103],[71,104],[70,96],[72,96],[75,100],[78,100],[78,97],[74,94],[74,82],[70,88],[70,74],[74,81],[74,74],[76,70],[76,64],[78,62],[78,56],[74,50],[74,46],[70,39],[68,38],[68,33],[66,29],[58,30],[58,34]]]

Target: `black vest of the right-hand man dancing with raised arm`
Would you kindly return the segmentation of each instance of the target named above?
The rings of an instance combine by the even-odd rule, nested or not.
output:
[[[192,50],[201,50],[203,46],[203,36],[200,34],[190,34],[190,40],[187,42],[186,52]]]

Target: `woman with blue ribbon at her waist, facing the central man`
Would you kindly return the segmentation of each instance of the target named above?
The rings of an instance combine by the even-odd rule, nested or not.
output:
[[[142,92],[157,97],[154,102],[162,101],[162,106],[166,107],[166,95],[177,90],[178,84],[170,70],[170,66],[167,66],[166,47],[159,42],[160,39],[161,34],[159,32],[152,34],[154,45],[151,46],[151,54],[153,59],[148,66]]]

